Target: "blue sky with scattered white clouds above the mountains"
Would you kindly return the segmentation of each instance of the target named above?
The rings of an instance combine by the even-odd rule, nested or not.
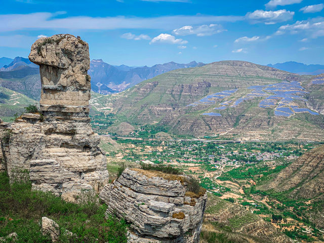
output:
[[[114,65],[192,60],[324,64],[318,0],[16,0],[0,8],[0,57],[27,57],[38,36],[79,35]]]

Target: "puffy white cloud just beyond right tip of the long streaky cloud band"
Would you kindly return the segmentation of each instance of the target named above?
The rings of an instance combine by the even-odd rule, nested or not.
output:
[[[275,24],[292,19],[294,14],[295,12],[287,11],[286,9],[277,11],[256,10],[253,13],[247,13],[246,17],[253,23]]]

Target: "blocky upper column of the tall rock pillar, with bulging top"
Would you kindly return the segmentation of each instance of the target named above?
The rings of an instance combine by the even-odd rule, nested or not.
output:
[[[69,34],[39,38],[31,46],[29,60],[39,65],[39,103],[45,116],[89,119],[90,57],[86,42]]]

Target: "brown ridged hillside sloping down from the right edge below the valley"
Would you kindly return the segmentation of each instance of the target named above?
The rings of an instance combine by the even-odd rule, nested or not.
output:
[[[273,180],[258,186],[277,198],[304,204],[302,217],[324,227],[324,145],[309,150],[282,170]],[[288,198],[288,199],[287,199]],[[296,206],[295,206],[296,207]]]

